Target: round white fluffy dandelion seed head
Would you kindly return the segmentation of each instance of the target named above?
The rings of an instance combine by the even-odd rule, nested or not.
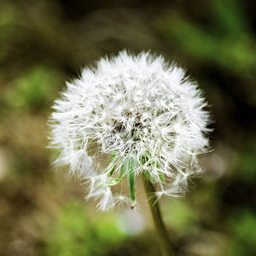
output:
[[[122,51],[67,83],[50,118],[51,146],[61,149],[57,163],[88,180],[88,197],[99,198],[102,210],[127,202],[113,189],[125,176],[132,207],[139,175],[156,185],[156,197],[183,195],[207,152],[206,107],[182,68]]]

